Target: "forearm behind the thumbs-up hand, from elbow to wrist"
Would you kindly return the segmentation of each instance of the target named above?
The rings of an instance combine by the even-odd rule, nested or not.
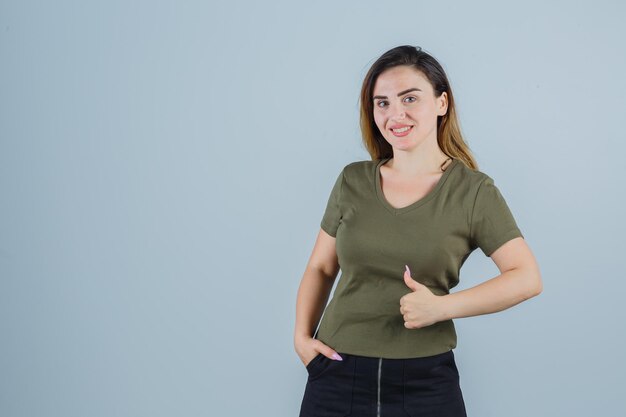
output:
[[[532,270],[512,269],[472,288],[441,296],[444,319],[495,313],[540,292],[540,280]]]

